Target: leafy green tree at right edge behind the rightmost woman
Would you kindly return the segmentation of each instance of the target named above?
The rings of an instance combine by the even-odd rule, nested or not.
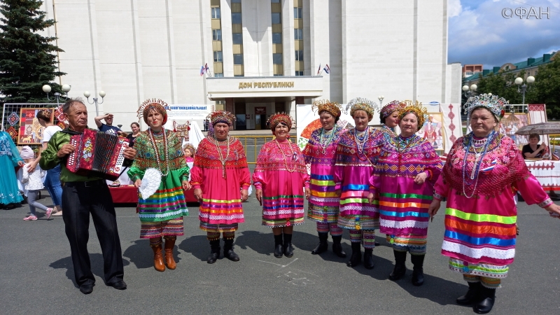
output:
[[[538,67],[535,83],[528,91],[531,104],[547,104],[548,119],[560,119],[560,56],[555,57]]]

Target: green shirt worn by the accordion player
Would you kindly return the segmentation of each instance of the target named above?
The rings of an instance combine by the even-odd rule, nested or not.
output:
[[[102,179],[101,177],[82,176],[74,174],[66,169],[66,160],[68,159],[66,157],[57,157],[57,152],[60,150],[60,148],[62,148],[62,146],[64,146],[64,144],[68,144],[70,142],[70,137],[73,134],[77,133],[66,128],[65,130],[56,132],[52,135],[52,137],[48,141],[47,148],[41,153],[41,160],[39,161],[41,169],[47,170],[55,168],[57,165],[61,165],[60,181],[62,183],[69,183],[72,181],[97,181],[99,179]]]

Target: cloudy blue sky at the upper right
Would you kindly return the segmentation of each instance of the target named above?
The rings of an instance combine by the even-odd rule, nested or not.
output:
[[[550,18],[503,18],[519,7],[549,8]],[[560,50],[560,0],[448,0],[448,15],[448,62],[491,69]]]

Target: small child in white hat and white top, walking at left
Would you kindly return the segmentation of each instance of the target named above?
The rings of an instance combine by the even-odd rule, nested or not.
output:
[[[31,163],[35,160],[35,153],[29,146],[24,146],[20,153],[22,159],[25,163]],[[38,159],[38,158],[37,158]],[[29,164],[27,164],[29,165]],[[27,166],[24,165],[23,169],[23,179],[22,183],[25,184],[25,189],[27,190],[27,204],[29,204],[29,216],[23,218],[23,221],[36,221],[37,216],[35,214],[35,208],[45,211],[45,216],[50,219],[52,214],[52,208],[48,208],[43,204],[36,202],[37,197],[41,189],[43,189],[43,176],[45,176],[45,171],[41,167],[35,167],[32,172],[29,172]]]

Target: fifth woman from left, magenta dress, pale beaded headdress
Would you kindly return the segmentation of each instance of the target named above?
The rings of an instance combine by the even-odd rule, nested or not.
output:
[[[363,244],[364,266],[373,268],[375,229],[379,228],[377,205],[371,204],[372,176],[386,132],[367,126],[374,115],[377,104],[368,99],[356,98],[348,102],[346,110],[354,119],[356,127],[340,136],[335,165],[335,189],[340,195],[338,226],[350,230],[352,255],[348,267],[356,267],[362,260],[360,244]]]

